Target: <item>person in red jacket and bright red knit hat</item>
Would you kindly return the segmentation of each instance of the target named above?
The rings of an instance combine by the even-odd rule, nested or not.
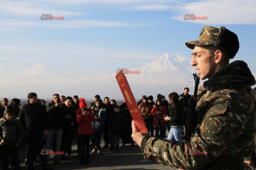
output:
[[[91,122],[96,121],[90,108],[81,108],[76,111],[77,122],[79,124],[78,135],[81,140],[80,159],[82,165],[87,165],[90,161],[90,135],[94,133]],[[85,156],[84,156],[85,151]]]

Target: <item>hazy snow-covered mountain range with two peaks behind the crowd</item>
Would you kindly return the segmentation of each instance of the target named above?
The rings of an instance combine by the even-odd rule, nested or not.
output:
[[[131,69],[140,73],[127,74],[126,77],[137,98],[143,94],[182,92],[184,87],[194,86],[189,62],[190,59],[177,54],[164,54],[147,65]],[[39,63],[14,77],[3,77],[0,88],[11,88],[12,94],[22,96],[33,90],[48,97],[55,93],[69,95],[83,93],[86,96],[102,94],[109,97],[111,94],[114,98],[122,99],[115,75],[116,73],[103,73],[68,78],[57,74],[46,63]]]

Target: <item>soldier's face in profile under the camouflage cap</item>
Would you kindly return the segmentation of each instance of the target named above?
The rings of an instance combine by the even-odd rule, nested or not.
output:
[[[195,46],[192,55],[193,58],[191,59],[191,65],[195,66],[195,70],[198,71],[197,74],[201,80],[211,78],[216,72],[217,66],[214,54],[211,54],[211,51],[206,48]]]

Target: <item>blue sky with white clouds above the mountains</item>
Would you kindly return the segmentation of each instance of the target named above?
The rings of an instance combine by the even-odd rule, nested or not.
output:
[[[255,8],[253,0],[3,0],[0,71],[12,76],[40,62],[68,77],[136,69],[166,53],[189,58],[184,42],[203,26],[226,26],[240,40],[235,59],[256,73]],[[208,18],[188,21],[185,14]]]

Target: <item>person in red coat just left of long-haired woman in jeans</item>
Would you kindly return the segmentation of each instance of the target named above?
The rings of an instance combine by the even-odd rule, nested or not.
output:
[[[155,137],[164,139],[166,137],[166,121],[164,116],[167,115],[166,105],[162,105],[161,99],[157,99],[150,115],[153,116],[153,126]],[[159,134],[160,131],[160,134]]]

